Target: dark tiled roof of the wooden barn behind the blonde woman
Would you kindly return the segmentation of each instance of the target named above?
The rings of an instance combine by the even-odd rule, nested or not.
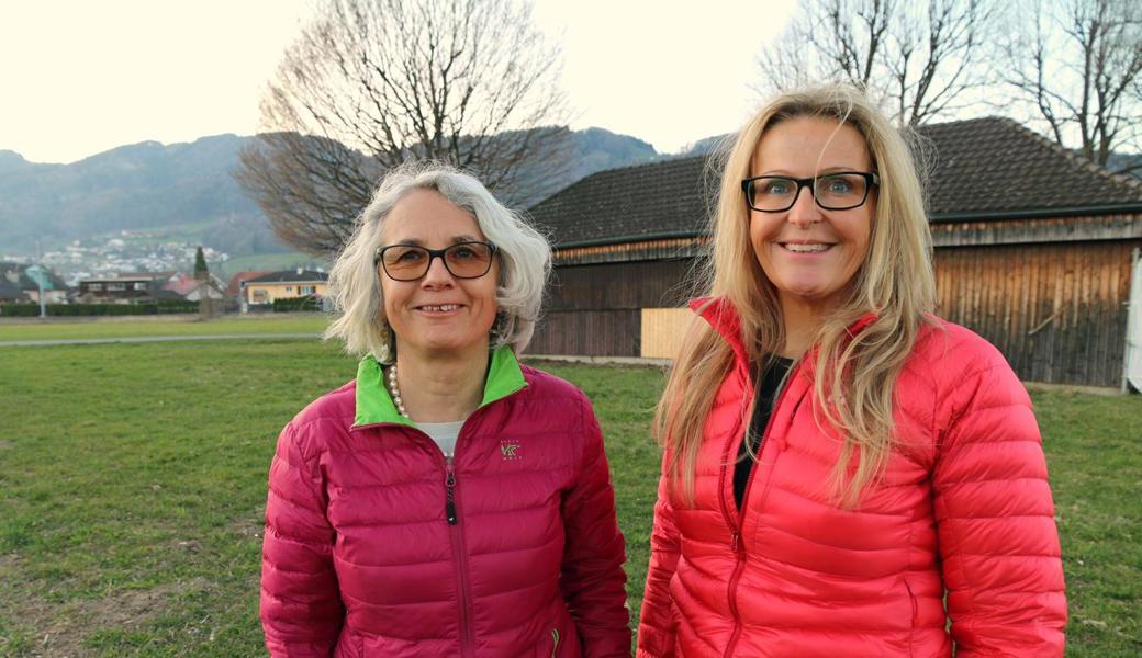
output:
[[[1142,212],[1142,182],[1116,176],[1010,119],[922,127],[933,221]],[[685,157],[588,176],[531,208],[556,247],[706,230],[718,172]]]

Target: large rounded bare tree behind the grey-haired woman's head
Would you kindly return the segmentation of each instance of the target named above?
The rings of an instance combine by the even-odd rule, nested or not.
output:
[[[337,252],[387,170],[437,160],[533,200],[569,131],[558,50],[520,0],[325,0],[278,68],[235,176],[278,235]]]

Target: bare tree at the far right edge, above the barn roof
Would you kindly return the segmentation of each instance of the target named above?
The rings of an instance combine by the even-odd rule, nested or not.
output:
[[[1029,9],[1029,10],[1028,10]],[[1035,2],[1004,47],[1004,81],[1063,147],[1107,165],[1142,147],[1142,5],[1136,0]],[[1142,164],[1127,168],[1137,169]]]

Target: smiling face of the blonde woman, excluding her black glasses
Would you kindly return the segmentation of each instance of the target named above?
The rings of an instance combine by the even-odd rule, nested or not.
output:
[[[860,132],[836,121],[801,116],[766,130],[754,151],[754,176],[810,178],[836,171],[871,171]],[[850,210],[826,210],[811,189],[781,212],[750,210],[749,238],[762,271],[782,304],[831,310],[844,301],[868,252],[876,194]]]

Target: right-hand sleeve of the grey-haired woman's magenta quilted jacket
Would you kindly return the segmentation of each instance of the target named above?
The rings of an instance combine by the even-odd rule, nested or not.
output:
[[[579,629],[585,658],[630,656],[626,547],[598,420],[584,398],[578,477],[563,499],[566,545],[560,584]]]

